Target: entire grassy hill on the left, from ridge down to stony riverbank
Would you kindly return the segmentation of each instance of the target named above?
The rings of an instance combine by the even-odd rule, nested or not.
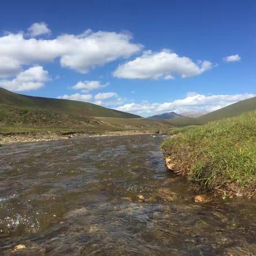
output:
[[[22,132],[159,130],[171,125],[92,103],[31,97],[0,88],[0,135]]]

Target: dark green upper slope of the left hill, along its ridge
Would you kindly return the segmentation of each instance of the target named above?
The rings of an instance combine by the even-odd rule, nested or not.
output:
[[[139,116],[104,108],[92,103],[60,100],[42,97],[31,97],[7,91],[0,88],[0,105],[1,109],[6,109],[7,106],[15,106],[21,109],[44,109],[58,113],[65,113],[76,116],[104,116],[104,117],[122,117],[136,118]]]

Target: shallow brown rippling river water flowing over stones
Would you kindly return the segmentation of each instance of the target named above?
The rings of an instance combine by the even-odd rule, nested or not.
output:
[[[255,199],[195,203],[163,139],[1,147],[0,255],[256,255]]]

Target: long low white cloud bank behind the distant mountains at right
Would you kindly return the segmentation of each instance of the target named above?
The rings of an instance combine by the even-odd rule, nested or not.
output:
[[[120,111],[134,114],[150,116],[166,111],[175,111],[183,113],[188,111],[207,111],[211,112],[219,108],[226,107],[235,102],[255,97],[255,94],[235,94],[235,95],[202,95],[197,93],[188,93],[186,98],[164,103],[150,103],[142,101],[140,103],[127,103],[116,108]]]

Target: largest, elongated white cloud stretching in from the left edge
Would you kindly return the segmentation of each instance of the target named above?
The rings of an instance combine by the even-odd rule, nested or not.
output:
[[[139,52],[142,45],[131,43],[131,35],[87,30],[81,35],[54,39],[25,38],[22,33],[0,37],[0,77],[16,75],[23,65],[60,59],[60,65],[85,74],[96,66]],[[6,64],[7,63],[7,64]]]

